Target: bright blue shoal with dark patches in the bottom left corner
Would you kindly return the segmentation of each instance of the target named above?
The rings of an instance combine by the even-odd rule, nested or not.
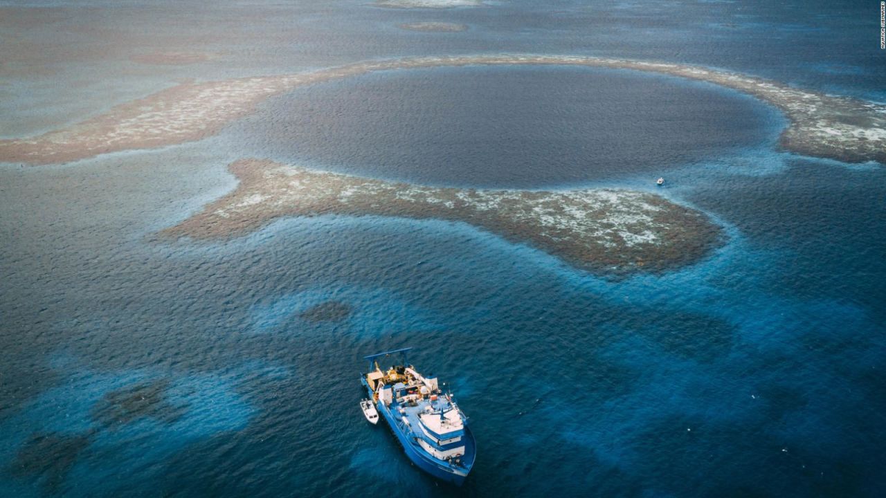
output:
[[[270,366],[187,375],[62,366],[66,382],[0,418],[0,474],[17,481],[0,482],[0,495],[78,494],[86,482],[110,488],[89,495],[127,494],[120,476],[137,468],[154,479],[184,447],[243,430],[257,409],[238,389],[275,375]]]

